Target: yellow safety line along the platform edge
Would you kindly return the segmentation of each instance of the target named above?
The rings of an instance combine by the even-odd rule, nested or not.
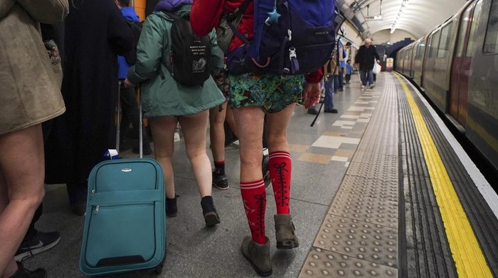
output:
[[[485,278],[493,277],[487,265],[484,254],[472,230],[467,214],[460,204],[457,192],[447,174],[443,160],[438,153],[433,138],[415,99],[410,94],[410,89],[405,82],[394,74],[405,90],[408,104],[410,105],[418,138],[422,145],[425,164],[428,167],[430,181],[433,184],[434,194],[443,218],[450,250],[455,260],[458,277]]]

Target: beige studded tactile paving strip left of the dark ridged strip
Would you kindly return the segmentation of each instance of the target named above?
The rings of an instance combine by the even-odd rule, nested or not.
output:
[[[398,126],[387,78],[300,277],[398,277]]]

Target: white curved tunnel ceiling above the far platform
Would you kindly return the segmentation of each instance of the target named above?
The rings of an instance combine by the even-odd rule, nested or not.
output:
[[[418,39],[454,15],[467,0],[408,0],[398,19],[396,30],[403,30]],[[391,30],[403,0],[337,0],[346,18],[361,24],[364,37],[381,30]],[[382,20],[366,21],[365,16],[382,16]],[[358,26],[357,26],[358,27]],[[361,30],[364,29],[364,30]]]

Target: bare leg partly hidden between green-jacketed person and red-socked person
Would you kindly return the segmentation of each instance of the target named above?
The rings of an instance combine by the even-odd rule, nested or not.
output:
[[[213,152],[213,160],[221,162],[225,160],[225,123],[226,106],[225,101],[220,106],[209,109],[209,138],[211,140],[211,151]]]

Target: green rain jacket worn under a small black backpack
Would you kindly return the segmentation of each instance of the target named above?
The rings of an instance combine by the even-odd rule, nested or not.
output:
[[[191,5],[175,11],[179,16],[190,13]],[[184,116],[199,113],[223,104],[225,96],[216,86],[213,77],[202,85],[186,87],[176,82],[166,68],[169,60],[169,35],[173,19],[161,11],[147,16],[137,45],[137,63],[129,68],[128,79],[140,84],[144,116]],[[211,39],[211,75],[223,70],[223,51],[216,43],[216,32]],[[159,69],[163,76],[159,74]]]

